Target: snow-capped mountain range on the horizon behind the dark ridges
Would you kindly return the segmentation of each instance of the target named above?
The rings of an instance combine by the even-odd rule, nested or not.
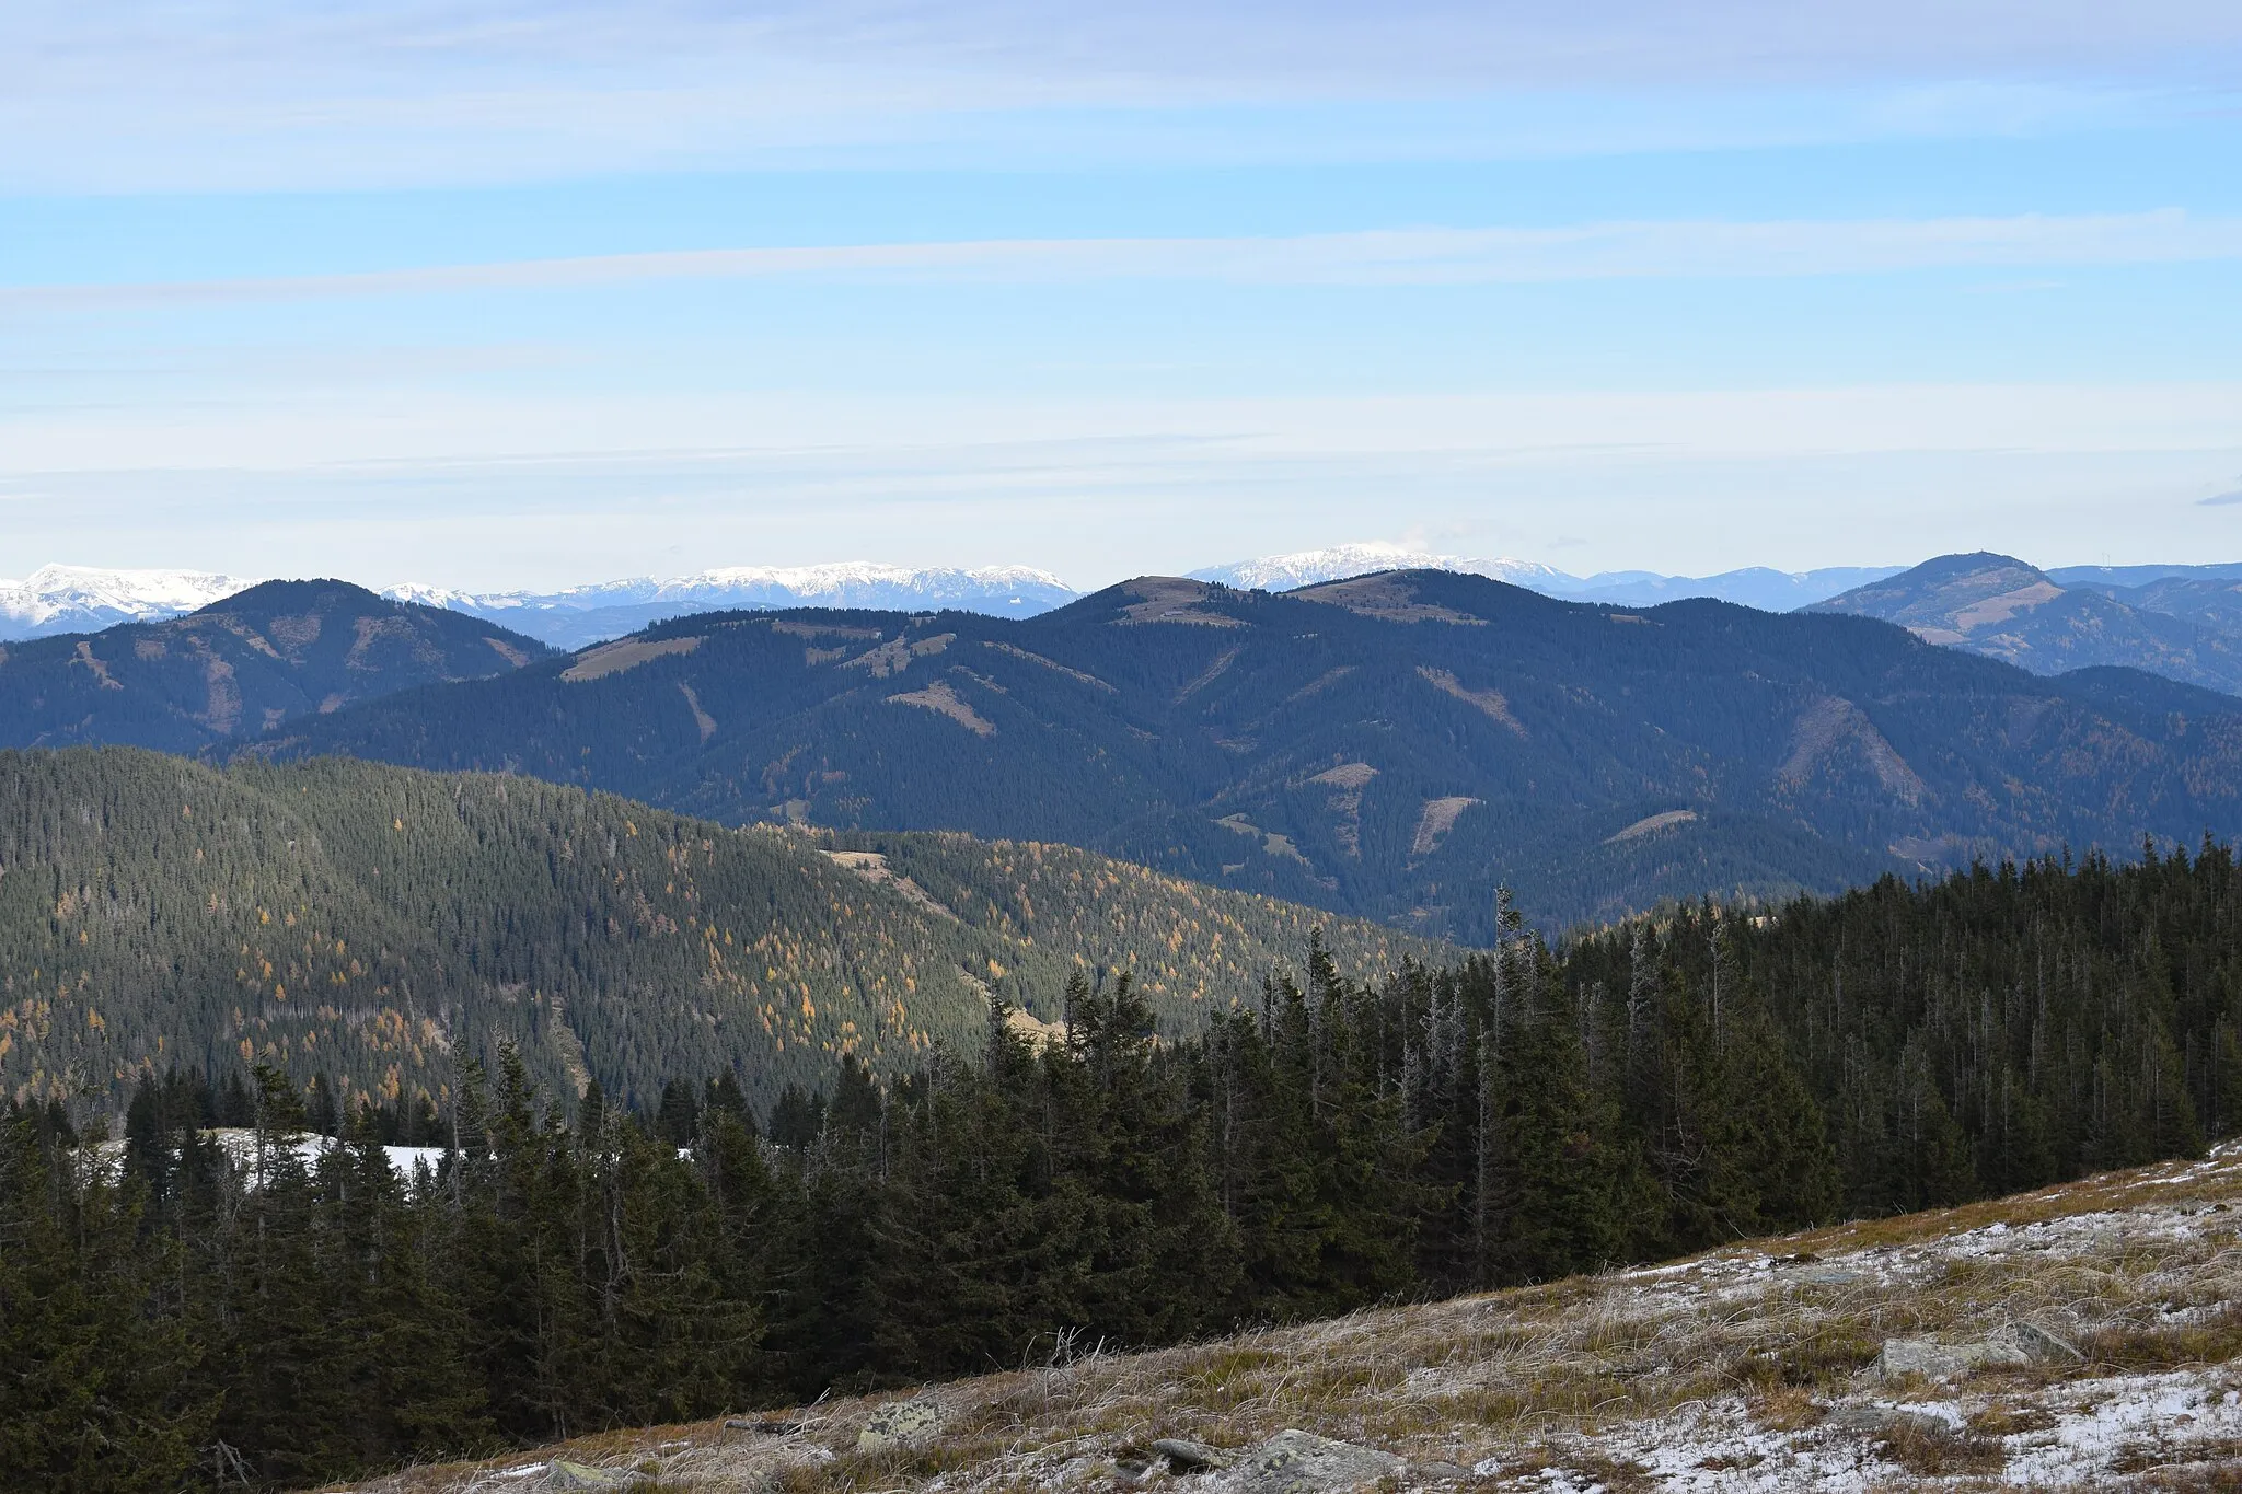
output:
[[[1399,544],[1334,544],[1327,549],[1260,555],[1191,571],[1229,587],[1285,591],[1368,571],[1442,569],[1493,576],[1547,596],[1621,607],[1652,607],[1686,596],[1713,596],[1764,611],[1789,611],[1852,587],[1894,576],[1901,567],[1834,567],[1771,571],[1751,567],[1720,576],[1664,576],[1657,571],[1601,571],[1567,576],[1534,560],[1437,555]],[[2172,569],[2172,567],[2166,567]],[[2184,569],[2184,567],[2177,567]],[[25,580],[0,582],[0,638],[99,632],[117,623],[173,618],[256,585],[211,571],[126,571],[49,564]],[[834,562],[805,567],[738,564],[657,580],[608,580],[560,591],[462,591],[395,585],[381,591],[399,603],[448,607],[500,623],[554,647],[585,647],[688,611],[767,607],[868,607],[924,611],[957,607],[1025,618],[1065,607],[1081,591],[1034,567],[901,567]]]

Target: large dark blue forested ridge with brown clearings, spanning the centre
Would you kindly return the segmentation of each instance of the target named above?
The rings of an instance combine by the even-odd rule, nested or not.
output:
[[[1850,616],[1399,571],[1285,596],[677,618],[260,746],[518,771],[722,822],[1063,840],[1484,943],[1704,891],[2242,831],[2242,701],[2038,679]]]

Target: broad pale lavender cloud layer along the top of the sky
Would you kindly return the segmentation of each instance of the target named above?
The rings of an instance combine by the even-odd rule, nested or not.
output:
[[[1619,130],[1639,148],[1785,130],[1722,119],[1735,94],[1778,96],[1789,130],[1818,92],[1805,110],[1854,134],[2002,132],[2238,76],[2242,9],[2211,0],[13,0],[0,184],[491,181],[928,141],[1020,159],[1034,119],[1069,112],[1101,152],[1271,150],[1224,139],[1235,119],[1179,141],[1159,116],[1307,101],[1509,101],[1451,121],[1451,150],[1610,139],[1567,94],[1655,116]],[[1289,146],[1345,155],[1350,132]]]

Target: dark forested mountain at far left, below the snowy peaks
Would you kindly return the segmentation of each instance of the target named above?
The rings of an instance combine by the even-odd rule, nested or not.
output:
[[[493,623],[341,580],[269,580],[182,618],[0,647],[0,746],[197,753],[287,717],[549,654]]]

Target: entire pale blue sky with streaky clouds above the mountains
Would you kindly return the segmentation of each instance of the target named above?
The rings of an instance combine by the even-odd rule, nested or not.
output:
[[[0,576],[2242,560],[2242,7],[0,7]]]

